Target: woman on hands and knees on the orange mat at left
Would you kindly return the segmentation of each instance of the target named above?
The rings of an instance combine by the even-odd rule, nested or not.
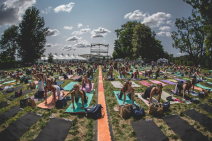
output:
[[[47,90],[52,92],[52,99],[53,99],[52,105],[55,105],[56,96],[58,97],[58,99],[61,99],[62,97],[65,96],[64,93],[60,94],[60,87],[58,85],[52,85],[50,78],[46,79],[46,86],[44,87],[44,90],[45,90],[45,92],[44,92],[45,104],[47,104]]]

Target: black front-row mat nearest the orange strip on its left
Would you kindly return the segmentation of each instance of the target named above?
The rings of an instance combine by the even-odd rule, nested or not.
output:
[[[63,141],[71,128],[72,121],[51,119],[40,132],[35,141]]]

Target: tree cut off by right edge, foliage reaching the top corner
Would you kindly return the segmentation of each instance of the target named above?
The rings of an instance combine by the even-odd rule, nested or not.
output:
[[[207,55],[212,57],[212,1],[211,0],[183,0],[190,4],[194,9],[197,9],[204,19],[203,31],[206,35],[205,45]]]

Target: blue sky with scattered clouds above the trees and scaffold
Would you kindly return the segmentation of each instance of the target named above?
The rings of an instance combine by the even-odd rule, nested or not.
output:
[[[117,39],[115,30],[127,21],[150,26],[164,50],[180,56],[172,47],[171,31],[176,18],[191,16],[192,7],[183,0],[0,0],[0,34],[11,24],[18,25],[29,6],[40,10],[49,27],[46,52],[88,54],[91,43],[109,44]]]

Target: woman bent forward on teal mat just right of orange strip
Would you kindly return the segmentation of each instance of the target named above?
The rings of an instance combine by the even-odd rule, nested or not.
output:
[[[132,104],[134,104],[134,88],[132,87],[132,82],[127,81],[124,85],[124,87],[121,89],[120,94],[117,93],[118,98],[121,100],[122,95],[124,94],[124,99],[123,99],[123,104],[125,103],[126,100],[126,95],[132,100]]]

